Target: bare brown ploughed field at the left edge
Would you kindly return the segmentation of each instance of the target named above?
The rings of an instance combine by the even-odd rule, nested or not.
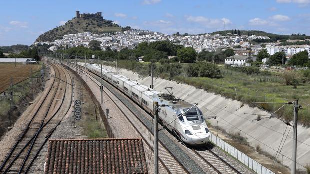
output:
[[[40,65],[21,65],[17,64],[0,64],[0,93],[7,89],[10,85],[10,77],[13,78],[13,84],[16,84],[30,76],[32,72],[38,71]]]

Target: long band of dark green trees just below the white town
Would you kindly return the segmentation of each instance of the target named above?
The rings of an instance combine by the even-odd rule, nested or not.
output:
[[[228,48],[224,51],[207,51],[203,49],[197,53],[192,47],[184,47],[170,41],[141,42],[134,49],[123,48],[120,51],[112,50],[107,47],[101,50],[100,42],[92,40],[89,48],[78,46],[73,48],[63,48],[57,50],[58,53],[68,53],[79,57],[99,57],[104,60],[137,60],[143,56],[143,61],[152,62],[183,62],[194,63],[196,61],[207,61],[214,63],[224,62],[225,57],[235,55],[233,49]]]

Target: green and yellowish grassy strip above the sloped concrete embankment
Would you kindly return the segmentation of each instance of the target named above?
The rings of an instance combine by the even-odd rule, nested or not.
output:
[[[95,60],[94,62],[98,62]],[[116,62],[100,61],[108,66],[115,66]],[[160,68],[160,63],[155,63],[154,76],[174,80],[204,89],[208,92],[222,95],[227,98],[241,101],[242,103],[254,106],[253,102],[271,102],[259,104],[260,107],[272,112],[281,107],[282,104],[298,98],[299,104],[304,109],[299,110],[298,122],[305,126],[310,126],[309,104],[310,104],[310,78],[304,77],[302,72],[298,72],[298,80],[300,81],[295,88],[294,85],[286,85],[291,74],[271,72],[248,75],[245,72],[218,66],[223,78],[208,77],[188,77],[182,68],[181,74],[170,76],[171,73],[166,69]],[[182,64],[183,66],[185,64]],[[125,68],[137,72],[141,76],[149,76],[149,62],[135,62],[119,60],[118,67]],[[294,84],[294,83],[292,83]],[[291,121],[293,119],[292,105],[286,105],[278,112],[277,116]]]

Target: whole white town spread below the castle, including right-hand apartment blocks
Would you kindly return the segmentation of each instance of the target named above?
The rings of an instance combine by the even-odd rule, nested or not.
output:
[[[227,57],[225,64],[233,66],[250,66],[247,63],[249,57],[254,57],[258,52],[263,49],[259,44],[251,45],[250,41],[253,39],[270,39],[268,36],[256,36],[256,35],[236,35],[226,34],[225,36],[220,34],[199,34],[199,35],[168,35],[160,32],[131,29],[124,32],[116,33],[103,33],[94,34],[91,32],[83,32],[78,34],[64,35],[61,40],[35,42],[37,44],[53,45],[49,50],[54,51],[59,47],[77,47],[85,46],[92,40],[101,42],[101,49],[105,50],[109,47],[112,50],[120,51],[121,49],[128,48],[134,49],[141,42],[155,42],[155,41],[171,41],[177,45],[183,45],[184,47],[192,47],[197,53],[203,49],[207,51],[215,51],[216,49],[233,48],[239,46],[240,48],[234,48],[237,54],[234,57]],[[294,54],[307,50],[310,52],[310,45],[289,45],[281,46],[279,43],[266,43],[265,49],[268,54],[273,55],[277,52],[284,52],[287,57],[291,57]],[[252,58],[250,58],[252,59]]]

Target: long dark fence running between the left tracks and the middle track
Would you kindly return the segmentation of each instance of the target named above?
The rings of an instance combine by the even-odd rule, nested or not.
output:
[[[66,66],[66,65],[64,65],[64,64],[62,64],[62,66],[66,67],[66,68],[68,67],[68,66]],[[103,109],[102,109],[100,103],[98,102],[96,96],[92,93],[90,87],[86,84],[86,82],[84,81],[84,79],[82,79],[82,77],[81,77],[77,72],[75,72],[75,71],[72,70],[71,68],[69,68],[69,69],[70,69],[70,71],[73,72],[73,74],[77,77],[78,81],[81,82],[81,83],[84,85],[84,87],[86,88],[86,91],[88,92],[88,94],[89,94],[91,100],[94,102],[96,108],[99,109],[98,112],[99,112],[99,114],[100,114],[100,116],[101,116],[101,119],[102,119],[102,121],[103,121],[103,125],[104,125],[104,128],[105,128],[105,130],[106,130],[106,133],[107,133],[108,137],[109,137],[109,138],[114,138],[114,134],[113,134],[113,132],[112,132],[112,129],[110,128],[110,126],[109,126],[109,124],[108,124],[108,122],[107,122],[107,118],[106,118],[106,116],[105,116],[105,114],[104,114],[104,112],[103,112]],[[96,113],[96,114],[97,114],[97,113]],[[100,122],[100,124],[101,124],[101,122]],[[101,126],[101,127],[102,127],[102,126]]]

